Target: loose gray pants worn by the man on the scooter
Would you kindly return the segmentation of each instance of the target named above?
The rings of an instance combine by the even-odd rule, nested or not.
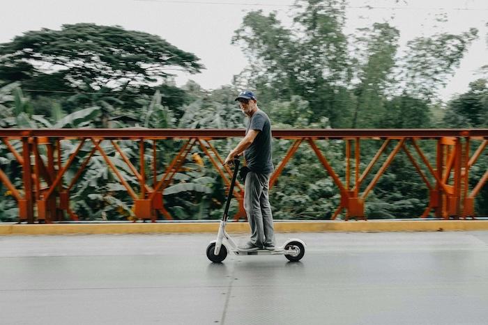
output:
[[[275,244],[273,214],[269,205],[269,174],[250,171],[245,177],[244,209],[251,226],[251,242],[256,246]]]

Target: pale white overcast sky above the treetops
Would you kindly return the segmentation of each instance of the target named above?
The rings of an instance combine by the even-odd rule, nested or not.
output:
[[[241,49],[230,44],[243,15],[250,10],[266,13],[276,10],[278,17],[287,23],[290,21],[289,6],[293,3],[294,0],[5,1],[1,4],[0,42],[43,27],[59,29],[62,24],[120,25],[160,35],[199,56],[206,70],[197,75],[181,75],[176,82],[181,85],[190,78],[211,89],[230,84],[232,76],[247,65]],[[478,28],[480,38],[473,42],[455,76],[441,90],[443,100],[466,91],[468,83],[477,78],[476,71],[488,65],[487,0],[351,0],[346,15],[346,33],[371,26],[372,22],[388,21],[400,30],[401,45],[435,32],[459,33],[470,27]],[[447,22],[442,22],[445,19]]]

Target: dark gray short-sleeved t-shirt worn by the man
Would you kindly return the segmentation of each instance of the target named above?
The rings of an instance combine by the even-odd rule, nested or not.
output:
[[[271,147],[271,121],[264,111],[258,110],[252,114],[245,134],[250,129],[259,130],[256,138],[244,151],[244,158],[247,163],[247,167],[254,173],[270,174],[273,173],[275,167],[271,160],[273,154],[273,148]]]

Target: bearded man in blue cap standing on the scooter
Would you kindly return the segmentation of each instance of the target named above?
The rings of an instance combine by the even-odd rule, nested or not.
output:
[[[224,164],[232,164],[234,157],[244,153],[247,168],[250,170],[244,182],[244,208],[251,226],[251,238],[247,244],[239,246],[239,249],[257,251],[264,248],[273,251],[273,214],[268,199],[269,177],[274,170],[271,161],[271,122],[266,113],[257,106],[256,96],[251,91],[243,91],[236,101],[250,119],[245,137],[224,161]]]

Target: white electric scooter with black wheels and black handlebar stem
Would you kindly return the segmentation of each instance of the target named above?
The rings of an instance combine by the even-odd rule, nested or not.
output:
[[[232,175],[231,186],[229,188],[229,194],[227,196],[227,202],[225,203],[224,215],[220,221],[219,232],[217,239],[213,240],[207,246],[207,257],[215,263],[220,263],[227,257],[227,252],[231,251],[236,255],[284,255],[291,262],[297,262],[301,260],[305,255],[305,242],[300,239],[288,239],[283,246],[275,248],[270,251],[267,249],[259,249],[257,251],[241,251],[239,250],[236,242],[232,240],[227,231],[225,231],[225,225],[227,224],[227,217],[229,212],[229,205],[234,192],[234,185],[236,184],[237,173],[239,170],[239,159],[234,159],[234,174]],[[223,243],[223,239],[226,239],[227,245]]]

